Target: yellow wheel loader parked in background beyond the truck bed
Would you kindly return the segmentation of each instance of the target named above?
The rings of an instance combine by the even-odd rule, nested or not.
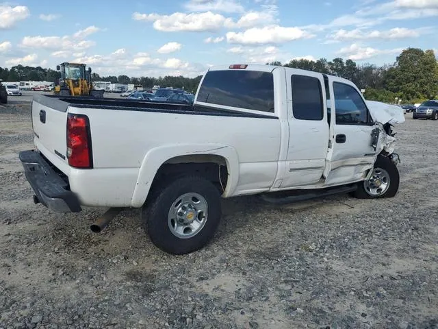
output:
[[[104,90],[94,90],[91,82],[91,68],[86,64],[64,62],[56,66],[61,77],[55,83],[55,95],[103,97]]]

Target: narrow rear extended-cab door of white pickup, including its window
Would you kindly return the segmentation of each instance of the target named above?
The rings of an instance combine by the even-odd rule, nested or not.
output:
[[[280,188],[320,182],[329,146],[324,77],[285,69],[289,144]]]

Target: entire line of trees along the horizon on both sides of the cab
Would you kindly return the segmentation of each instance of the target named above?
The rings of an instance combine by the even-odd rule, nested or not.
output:
[[[426,99],[438,98],[438,62],[433,50],[423,51],[408,48],[396,57],[396,62],[383,66],[365,63],[357,64],[353,60],[344,61],[334,58],[331,61],[320,58],[312,60],[291,60],[288,63],[270,62],[279,66],[305,69],[344,77],[354,82],[360,89],[365,89],[366,99],[394,103],[396,97],[403,103],[418,103]],[[17,65],[11,69],[0,67],[0,79],[5,82],[18,81],[50,81],[55,82],[60,73],[53,69]],[[165,77],[128,77],[127,75],[100,76],[92,73],[94,81],[108,81],[120,84],[140,84],[143,88],[155,85],[174,86],[196,91],[201,75],[194,78],[183,76]]]

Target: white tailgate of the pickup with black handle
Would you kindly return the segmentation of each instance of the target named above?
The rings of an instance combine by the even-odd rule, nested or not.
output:
[[[67,164],[66,124],[69,103],[47,95],[32,101],[32,125],[36,147],[57,167]],[[62,163],[60,163],[62,162]]]

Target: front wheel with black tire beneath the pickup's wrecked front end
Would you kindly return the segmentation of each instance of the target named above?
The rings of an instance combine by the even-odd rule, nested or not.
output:
[[[360,182],[357,186],[357,190],[352,193],[353,197],[357,199],[394,197],[398,192],[398,186],[400,184],[400,175],[396,164],[386,156],[377,156],[373,170],[372,178]],[[373,182],[373,178],[378,178],[378,181]],[[385,182],[387,182],[387,186],[385,186]]]

